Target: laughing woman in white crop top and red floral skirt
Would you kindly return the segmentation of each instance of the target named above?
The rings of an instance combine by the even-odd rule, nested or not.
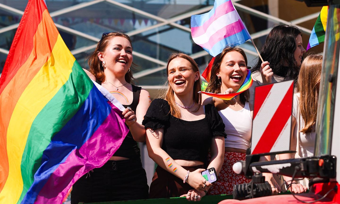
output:
[[[247,58],[240,48],[226,47],[220,55],[217,55],[211,68],[207,92],[216,94],[229,92],[233,89],[236,92],[243,84],[247,75]],[[208,99],[203,100],[209,101]],[[248,183],[251,180],[243,175],[234,173],[232,167],[239,160],[245,160],[246,149],[250,148],[252,130],[252,110],[249,105],[249,90],[242,92],[236,97],[236,103],[227,108],[217,104],[215,98],[210,99],[217,109],[222,109],[219,114],[225,125],[225,154],[224,163],[218,177],[216,185],[213,185],[208,194],[232,194],[235,184]],[[230,104],[230,101],[225,101]],[[226,105],[226,104],[224,104]],[[226,105],[227,106],[227,105]],[[221,108],[222,107],[222,108]],[[225,108],[225,109],[223,109]],[[271,186],[276,182],[272,174],[263,174]],[[272,188],[273,193],[278,193],[279,189]]]

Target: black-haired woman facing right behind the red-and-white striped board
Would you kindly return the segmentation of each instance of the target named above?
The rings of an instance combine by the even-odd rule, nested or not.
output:
[[[254,102],[256,86],[286,80],[296,81],[305,52],[302,46],[302,33],[297,27],[275,26],[260,51],[265,62],[262,63],[259,59],[252,69],[253,85],[249,89],[250,103]]]

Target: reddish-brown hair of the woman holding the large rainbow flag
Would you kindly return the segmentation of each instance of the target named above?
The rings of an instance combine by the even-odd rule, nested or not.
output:
[[[109,41],[114,37],[124,37],[129,40],[131,47],[132,47],[132,41],[130,37],[124,33],[121,32],[113,32],[109,33],[107,35],[102,36],[101,40],[99,40],[96,50],[88,57],[88,66],[90,67],[90,72],[96,77],[97,81],[101,84],[105,81],[105,73],[104,73],[104,67],[102,65],[102,61],[98,58],[98,52],[104,52],[107,46],[109,45]],[[130,67],[130,71],[125,74],[125,81],[128,83],[133,83],[132,80],[134,79],[132,76],[132,69],[135,69],[134,67],[136,64],[132,62],[132,65]]]

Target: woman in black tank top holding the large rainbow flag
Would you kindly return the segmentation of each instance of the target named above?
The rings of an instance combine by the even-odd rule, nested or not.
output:
[[[146,132],[141,122],[150,98],[148,91],[133,85],[132,50],[128,35],[103,33],[89,57],[88,75],[123,104],[122,114],[130,131],[107,163],[82,176],[73,185],[71,203],[148,198],[149,187],[137,142],[145,141]]]

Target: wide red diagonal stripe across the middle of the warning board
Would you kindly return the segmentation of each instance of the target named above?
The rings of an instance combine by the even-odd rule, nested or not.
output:
[[[278,106],[275,114],[270,120],[265,132],[263,132],[260,140],[257,142],[252,154],[258,154],[263,152],[270,152],[278,136],[282,132],[287,120],[291,116],[291,112],[287,111],[287,105],[291,105],[293,100],[293,95],[290,90],[293,89],[293,83],[286,92],[285,97]]]

